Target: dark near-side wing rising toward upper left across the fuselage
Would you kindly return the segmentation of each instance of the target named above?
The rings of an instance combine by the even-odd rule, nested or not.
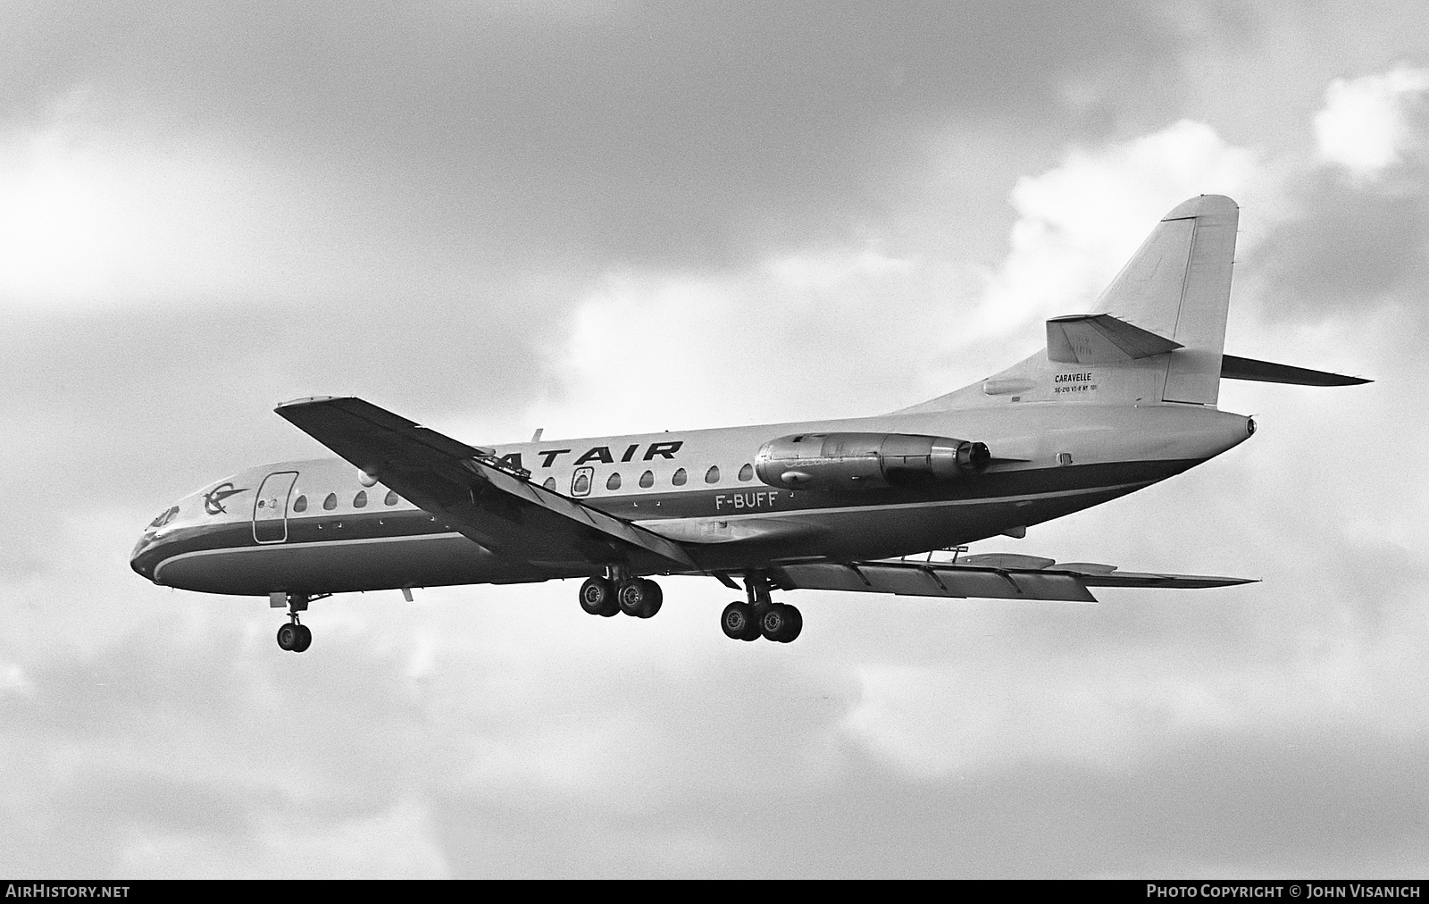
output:
[[[537,568],[629,562],[700,571],[677,544],[537,486],[480,449],[356,398],[314,396],[279,415],[492,552]]]

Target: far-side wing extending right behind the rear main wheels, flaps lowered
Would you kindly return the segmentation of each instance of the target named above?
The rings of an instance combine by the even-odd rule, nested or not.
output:
[[[1250,584],[1253,578],[1163,575],[1117,571],[1115,565],[1066,562],[1030,555],[987,554],[956,562],[843,562],[785,565],[770,581],[786,589],[855,591],[903,596],[987,596],[1096,602],[1090,586],[1202,588]]]

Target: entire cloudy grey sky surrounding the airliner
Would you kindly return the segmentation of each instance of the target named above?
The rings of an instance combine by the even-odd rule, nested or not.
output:
[[[0,873],[1425,875],[1429,7],[0,4]],[[1260,432],[979,544],[1260,584],[149,585],[141,528],[362,395],[467,442],[855,416],[1240,205]]]

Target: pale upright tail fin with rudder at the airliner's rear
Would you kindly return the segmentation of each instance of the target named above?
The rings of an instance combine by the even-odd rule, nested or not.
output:
[[[1097,300],[1097,313],[1182,346],[1167,355],[1166,402],[1216,403],[1239,217],[1236,202],[1223,195],[1179,205]]]

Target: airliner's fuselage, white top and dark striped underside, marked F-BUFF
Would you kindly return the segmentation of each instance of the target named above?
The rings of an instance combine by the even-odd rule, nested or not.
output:
[[[543,439],[496,446],[530,481],[692,551],[699,571],[859,561],[966,544],[1142,489],[1242,442],[1242,415],[1202,405],[1029,402],[847,421]],[[917,488],[812,491],[760,481],[763,443],[800,432],[986,443],[980,473]],[[216,594],[340,592],[589,575],[512,561],[339,458],[240,471],[154,519],[134,569]]]

